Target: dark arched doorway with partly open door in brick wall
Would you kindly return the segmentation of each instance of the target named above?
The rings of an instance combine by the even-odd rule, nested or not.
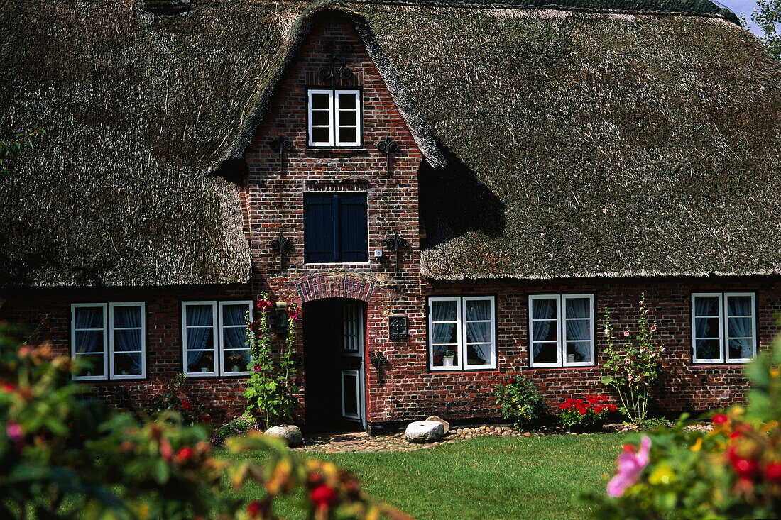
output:
[[[313,301],[304,308],[306,429],[365,428],[363,351],[366,305],[360,301]]]

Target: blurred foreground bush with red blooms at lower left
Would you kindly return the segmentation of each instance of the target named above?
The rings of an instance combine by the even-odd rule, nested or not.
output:
[[[308,518],[408,518],[373,504],[333,464],[310,461],[282,440],[250,433],[231,454],[269,452],[266,465],[216,458],[201,426],[161,412],[139,422],[77,398],[78,367],[47,345],[19,346],[0,325],[0,518],[273,518],[277,497],[305,490]],[[244,504],[230,493],[260,486]]]

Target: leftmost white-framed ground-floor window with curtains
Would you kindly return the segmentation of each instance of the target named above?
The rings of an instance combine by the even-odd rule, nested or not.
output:
[[[73,379],[146,377],[144,302],[71,305],[71,356],[81,368]]]

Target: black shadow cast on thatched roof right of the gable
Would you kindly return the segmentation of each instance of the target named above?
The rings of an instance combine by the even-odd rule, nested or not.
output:
[[[444,244],[466,233],[488,237],[505,233],[505,205],[449,148],[437,142],[448,166],[432,168],[423,162],[419,200],[426,226],[424,247]]]

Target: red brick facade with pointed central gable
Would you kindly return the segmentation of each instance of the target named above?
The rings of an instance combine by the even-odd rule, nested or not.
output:
[[[348,80],[323,80],[330,69],[327,45],[351,44],[346,65]],[[360,87],[363,109],[363,148],[316,150],[306,146],[307,87]],[[293,149],[280,155],[270,143],[284,137]],[[398,142],[390,173],[377,143]],[[665,373],[658,400],[669,411],[721,407],[743,400],[747,383],[742,365],[693,365],[691,359],[690,293],[755,291],[758,339],[765,348],[776,333],[781,311],[781,278],[647,278],[545,281],[422,280],[419,272],[421,223],[418,174],[423,157],[402,119],[380,73],[347,20],[330,17],[312,30],[287,71],[269,112],[246,151],[247,172],[241,187],[244,234],[251,245],[253,278],[241,287],[142,287],[16,290],[5,294],[0,318],[35,326],[45,315],[41,337],[58,351],[70,351],[70,305],[77,302],[145,301],[147,312],[147,379],[95,384],[96,392],[123,407],[138,407],[159,390],[166,378],[182,370],[181,301],[256,299],[268,290],[274,301],[323,298],[365,301],[366,418],[369,423],[395,422],[436,413],[451,419],[494,418],[493,387],[505,376],[530,375],[556,403],[572,394],[607,393],[599,383],[604,338],[597,333],[597,366],[579,369],[529,369],[528,296],[530,294],[594,294],[596,329],[607,307],[617,325],[634,318],[641,293],[658,321],[658,338],[665,344]],[[305,191],[366,191],[369,205],[369,262],[355,264],[304,263],[303,194]],[[454,201],[455,203],[456,201]],[[280,253],[270,247],[280,233],[293,249]],[[398,233],[408,248],[397,257],[386,240]],[[375,258],[374,251],[382,256]],[[496,297],[497,369],[473,372],[430,372],[427,360],[426,297],[434,295],[494,295]],[[406,340],[390,340],[387,318],[405,315]],[[297,349],[305,356],[307,341],[298,322]],[[277,346],[282,340],[276,338]],[[388,364],[369,363],[374,353]],[[301,373],[299,385],[305,388]],[[244,407],[242,377],[194,377],[190,390],[213,408],[234,413]],[[301,420],[305,422],[304,394]],[[334,396],[334,398],[339,398]]]

